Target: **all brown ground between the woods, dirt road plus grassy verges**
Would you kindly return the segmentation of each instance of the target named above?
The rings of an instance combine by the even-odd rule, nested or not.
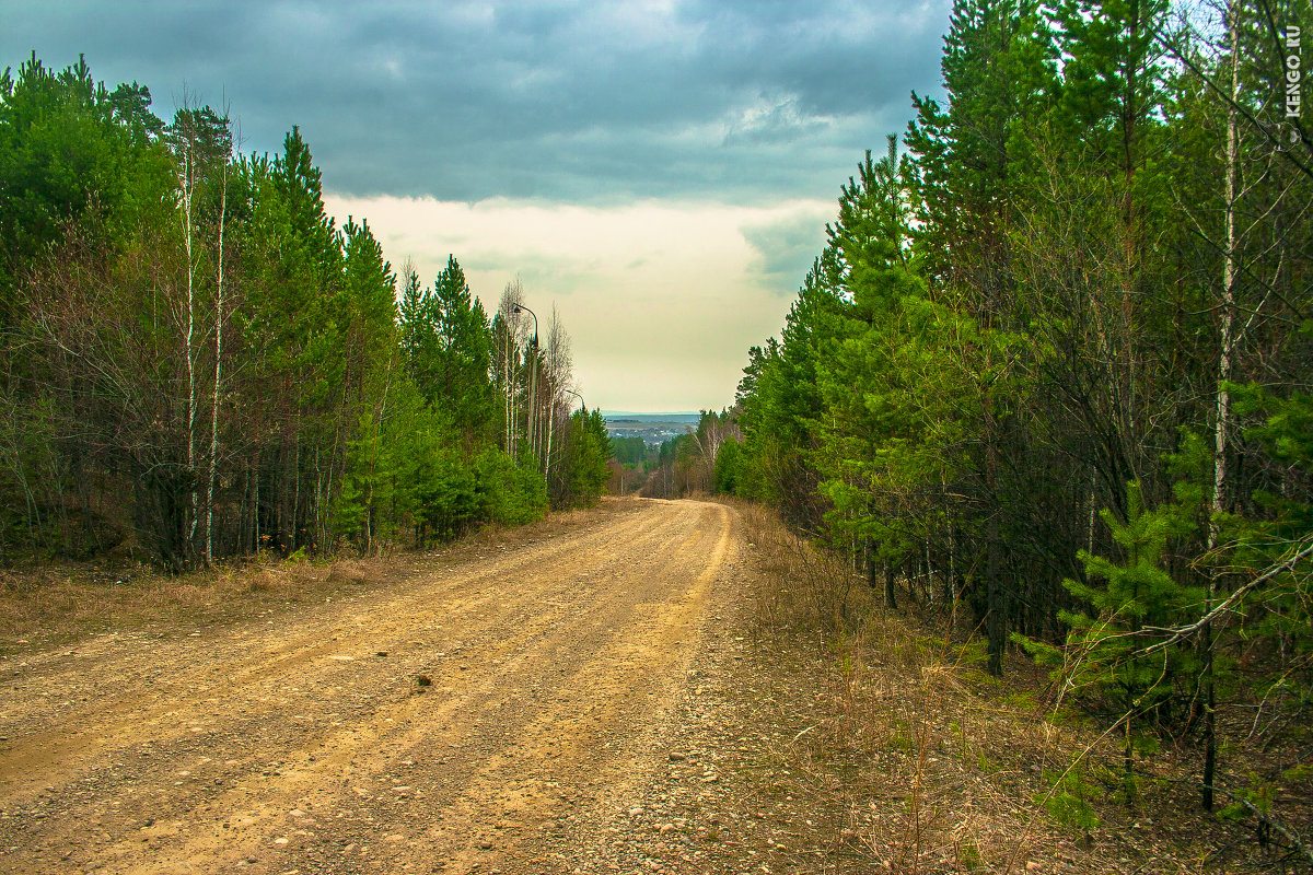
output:
[[[1170,799],[1056,825],[1081,740],[1035,677],[983,678],[754,508],[184,586],[163,621],[0,630],[0,871],[1264,868]]]

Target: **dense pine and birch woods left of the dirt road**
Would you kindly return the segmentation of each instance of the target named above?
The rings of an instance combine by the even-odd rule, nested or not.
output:
[[[0,76],[0,561],[372,550],[600,495],[519,282],[490,315],[454,257],[398,277],[295,127],[242,155],[226,110],[150,105],[84,62]]]

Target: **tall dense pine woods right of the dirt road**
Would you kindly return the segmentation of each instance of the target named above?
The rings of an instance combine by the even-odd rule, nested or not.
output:
[[[1313,749],[1300,25],[1305,1],[955,3],[947,102],[914,94],[842,186],[710,468],[889,607],[978,632],[989,672],[1053,666],[1123,740],[1128,800],[1140,758],[1192,745],[1203,804],[1271,829]]]

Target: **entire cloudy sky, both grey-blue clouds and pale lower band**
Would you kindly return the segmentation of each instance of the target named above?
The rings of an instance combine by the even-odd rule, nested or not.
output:
[[[227,102],[248,152],[299,125],[394,268],[554,307],[590,405],[720,409],[863,151],[939,96],[948,7],[0,0],[0,67],[83,52],[161,117]]]

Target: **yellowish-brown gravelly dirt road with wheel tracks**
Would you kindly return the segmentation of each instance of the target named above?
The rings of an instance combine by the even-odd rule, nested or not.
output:
[[[643,501],[328,603],[8,657],[0,871],[557,871],[565,824],[666,760],[738,526]]]

